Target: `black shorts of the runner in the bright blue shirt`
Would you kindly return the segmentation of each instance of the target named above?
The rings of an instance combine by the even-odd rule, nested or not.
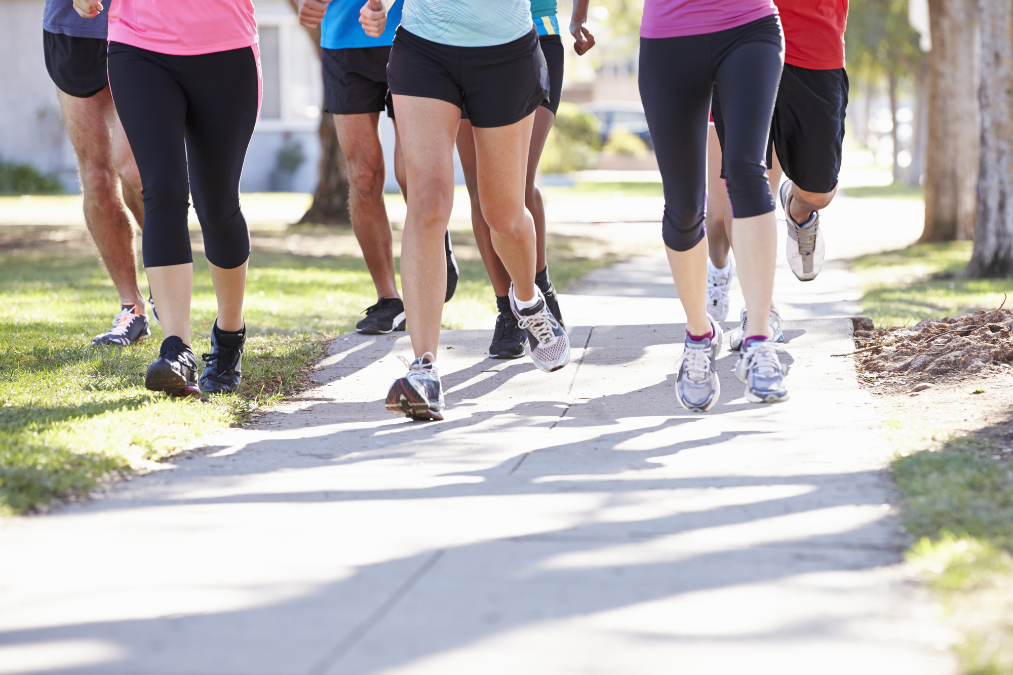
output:
[[[334,115],[394,117],[387,96],[389,47],[323,50],[323,109]]]

